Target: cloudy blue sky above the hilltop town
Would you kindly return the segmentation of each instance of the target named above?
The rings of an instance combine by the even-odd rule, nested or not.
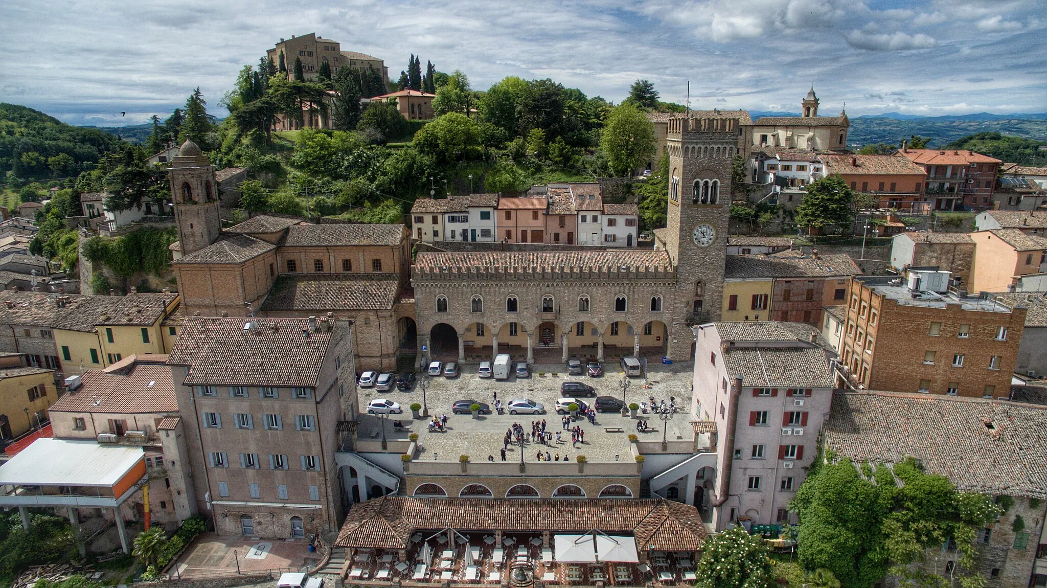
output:
[[[692,108],[1047,111],[1045,0],[23,0],[0,2],[0,101],[80,125],[211,111],[244,64],[316,32],[385,60],[462,69],[473,88],[552,77],[621,100],[650,80]],[[127,112],[120,117],[119,112]]]

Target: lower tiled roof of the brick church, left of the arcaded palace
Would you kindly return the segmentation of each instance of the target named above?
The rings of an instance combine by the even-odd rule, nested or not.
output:
[[[389,310],[400,289],[397,274],[305,274],[282,276],[263,311]]]

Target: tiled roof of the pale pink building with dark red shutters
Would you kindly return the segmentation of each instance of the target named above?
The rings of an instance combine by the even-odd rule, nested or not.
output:
[[[723,363],[744,386],[832,387],[832,370],[821,347],[727,347]]]

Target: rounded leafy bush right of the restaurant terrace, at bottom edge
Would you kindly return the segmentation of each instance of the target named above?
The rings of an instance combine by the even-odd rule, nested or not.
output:
[[[706,539],[695,566],[697,588],[770,588],[774,568],[763,539],[741,525]]]

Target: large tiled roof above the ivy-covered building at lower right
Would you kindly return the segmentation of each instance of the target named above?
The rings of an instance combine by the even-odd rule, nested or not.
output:
[[[825,424],[839,457],[909,456],[962,492],[1047,498],[1047,409],[985,399],[837,392]]]

